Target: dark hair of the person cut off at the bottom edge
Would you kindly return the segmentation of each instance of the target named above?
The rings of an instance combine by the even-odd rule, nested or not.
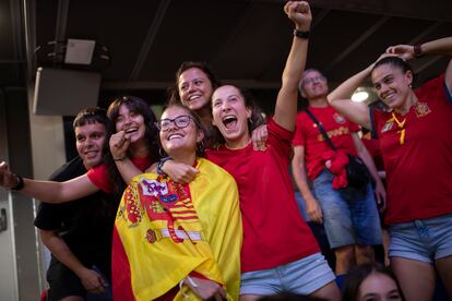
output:
[[[397,286],[399,293],[402,300],[405,300],[401,286],[394,273],[380,263],[369,263],[357,265],[348,272],[345,281],[344,281],[344,294],[343,299],[347,301],[358,301],[359,288],[364,280],[369,277],[371,274],[383,274],[394,280]]]

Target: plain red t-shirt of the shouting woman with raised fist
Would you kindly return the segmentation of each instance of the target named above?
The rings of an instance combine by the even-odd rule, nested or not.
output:
[[[288,173],[293,132],[273,119],[266,127],[265,152],[253,150],[250,143],[241,149],[222,146],[206,153],[237,181],[243,224],[242,273],[273,268],[319,252],[299,214]]]

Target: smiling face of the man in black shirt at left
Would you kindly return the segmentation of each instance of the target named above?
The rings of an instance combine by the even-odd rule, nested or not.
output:
[[[103,146],[107,135],[104,124],[94,122],[75,127],[75,147],[86,169],[91,169],[102,162]]]

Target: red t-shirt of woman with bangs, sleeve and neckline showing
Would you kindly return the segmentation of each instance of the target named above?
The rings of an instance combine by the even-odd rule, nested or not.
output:
[[[138,169],[144,172],[151,164],[152,158],[151,157],[144,157],[144,158],[131,158],[131,161],[134,166],[136,166]],[[92,168],[87,172],[87,177],[90,178],[90,181],[95,184],[98,189],[102,191],[105,191],[107,193],[111,193],[114,191],[110,182],[110,174],[108,173],[107,166],[105,164],[98,165],[95,168]]]

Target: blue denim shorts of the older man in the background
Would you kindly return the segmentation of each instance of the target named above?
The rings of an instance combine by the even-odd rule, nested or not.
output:
[[[313,181],[313,192],[323,213],[332,249],[349,244],[381,244],[381,226],[373,189],[332,186],[334,176],[323,170]]]

